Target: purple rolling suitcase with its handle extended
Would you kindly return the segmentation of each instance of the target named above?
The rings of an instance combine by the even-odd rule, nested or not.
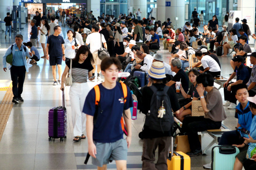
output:
[[[67,135],[67,110],[65,108],[64,91],[62,94],[63,106],[54,107],[49,110],[48,117],[48,134],[49,141],[60,138],[62,142]]]

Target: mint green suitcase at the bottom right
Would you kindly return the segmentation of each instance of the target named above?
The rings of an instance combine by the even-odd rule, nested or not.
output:
[[[239,149],[236,146],[214,146],[211,150],[211,169],[233,170],[238,153]]]

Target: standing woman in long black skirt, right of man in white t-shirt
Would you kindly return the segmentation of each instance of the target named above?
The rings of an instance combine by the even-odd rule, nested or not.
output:
[[[115,47],[114,52],[118,55],[122,55],[124,53],[124,45],[123,45],[123,38],[122,38],[122,31],[120,28],[120,24],[117,23],[114,25],[115,29],[117,30],[115,35]]]

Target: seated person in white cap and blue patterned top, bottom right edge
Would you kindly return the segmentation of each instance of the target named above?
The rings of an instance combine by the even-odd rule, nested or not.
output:
[[[256,96],[247,97],[249,103],[249,108],[253,115],[256,115]],[[243,166],[245,170],[255,170],[256,169],[256,116],[253,117],[250,134],[248,138],[244,137],[245,141],[243,144],[236,145],[240,149],[240,153],[236,156],[236,161],[234,164],[234,170],[242,170]],[[248,145],[249,146],[248,146]],[[252,159],[252,160],[250,160]]]

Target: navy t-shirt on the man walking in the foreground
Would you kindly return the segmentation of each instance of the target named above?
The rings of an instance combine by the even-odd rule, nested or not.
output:
[[[123,110],[133,107],[132,95],[127,87],[127,101],[124,104],[124,93],[120,83],[113,89],[106,89],[99,84],[101,98],[96,123],[93,125],[93,141],[99,143],[116,142],[123,138],[123,130],[120,124]],[[94,116],[95,113],[95,90],[88,93],[83,113]]]

